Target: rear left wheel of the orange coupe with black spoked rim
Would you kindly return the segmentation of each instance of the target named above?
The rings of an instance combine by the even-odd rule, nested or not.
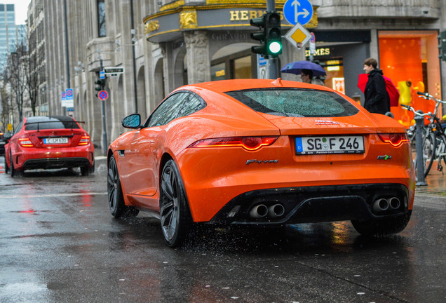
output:
[[[165,243],[175,248],[184,243],[192,225],[186,191],[175,161],[165,163],[160,187],[161,229]]]

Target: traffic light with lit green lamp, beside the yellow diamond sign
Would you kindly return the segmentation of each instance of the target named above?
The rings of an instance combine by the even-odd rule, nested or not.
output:
[[[282,53],[281,15],[275,12],[266,13],[265,29],[266,53],[277,58]]]

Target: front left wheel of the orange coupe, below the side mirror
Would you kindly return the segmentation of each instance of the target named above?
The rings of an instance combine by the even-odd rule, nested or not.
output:
[[[107,173],[107,193],[110,213],[115,218],[119,217],[135,217],[140,210],[133,206],[126,206],[121,188],[121,180],[119,179],[118,167],[116,160],[112,156],[109,160],[109,169]]]

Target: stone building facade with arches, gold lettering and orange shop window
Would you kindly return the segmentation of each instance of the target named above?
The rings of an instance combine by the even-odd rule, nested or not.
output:
[[[107,146],[125,131],[124,116],[139,112],[144,119],[183,84],[262,76],[257,55],[250,52],[256,45],[250,39],[256,30],[250,18],[263,15],[266,1],[33,1],[41,12],[32,20],[44,27],[43,44],[36,42],[44,49],[46,73],[40,108],[85,121],[97,146]],[[421,89],[438,97],[445,93],[446,65],[438,58],[437,39],[446,29],[445,1],[310,2],[313,16],[305,27],[315,36],[313,58],[327,71],[326,86],[362,100],[358,74],[363,74],[365,58],[374,57],[410,98]],[[281,14],[284,5],[276,0]],[[283,18],[283,34],[291,27]],[[278,65],[308,55],[308,48],[298,50],[284,40]],[[101,65],[124,71],[107,75],[104,115],[95,95]],[[280,76],[299,81],[298,75]],[[66,88],[74,90],[74,112],[62,107],[60,95]]]

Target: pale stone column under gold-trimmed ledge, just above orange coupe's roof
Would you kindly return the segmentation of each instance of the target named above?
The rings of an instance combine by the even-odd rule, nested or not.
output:
[[[184,32],[187,50],[187,79],[189,84],[210,81],[208,32]]]

